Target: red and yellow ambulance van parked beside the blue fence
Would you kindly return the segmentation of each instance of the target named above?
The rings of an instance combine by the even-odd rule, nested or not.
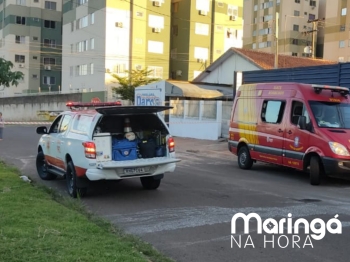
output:
[[[242,85],[233,102],[229,150],[241,169],[263,161],[321,177],[350,177],[349,89],[302,83]]]

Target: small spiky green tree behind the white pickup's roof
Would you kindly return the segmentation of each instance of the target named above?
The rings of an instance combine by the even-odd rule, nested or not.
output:
[[[160,78],[149,77],[153,70],[131,70],[126,71],[128,76],[120,77],[116,74],[112,76],[118,81],[119,87],[113,87],[113,91],[119,94],[124,100],[135,100],[135,87],[147,85],[161,80]]]

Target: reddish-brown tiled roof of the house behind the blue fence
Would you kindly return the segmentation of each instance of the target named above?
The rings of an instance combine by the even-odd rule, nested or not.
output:
[[[241,54],[263,69],[275,68],[275,54],[255,51],[250,49],[231,48],[234,52]],[[289,55],[278,55],[278,68],[292,68],[304,66],[334,65],[338,61],[312,59]]]

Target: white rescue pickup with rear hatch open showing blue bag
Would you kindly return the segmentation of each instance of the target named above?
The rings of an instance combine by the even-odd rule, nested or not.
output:
[[[67,103],[49,129],[37,128],[36,167],[43,180],[63,176],[72,197],[84,196],[90,181],[140,178],[157,189],[174,172],[175,142],[158,112],[166,106]],[[97,106],[97,107],[96,107]],[[88,109],[93,107],[93,109]]]

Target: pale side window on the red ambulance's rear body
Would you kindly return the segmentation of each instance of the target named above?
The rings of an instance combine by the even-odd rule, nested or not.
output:
[[[264,101],[261,111],[261,120],[265,123],[279,124],[282,122],[286,102],[279,100]]]

